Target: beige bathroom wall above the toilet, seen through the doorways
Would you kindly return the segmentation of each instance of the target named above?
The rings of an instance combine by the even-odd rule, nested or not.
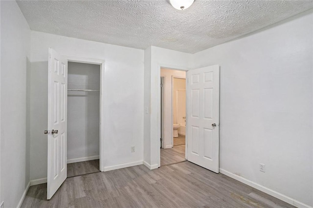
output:
[[[177,90],[186,90],[186,79],[173,79],[173,124],[184,124],[182,117],[186,117],[186,99],[183,101],[183,99],[180,98],[181,100],[178,103],[178,93],[181,92]],[[186,94],[186,91],[184,91],[184,93]],[[181,118],[178,118],[179,115]]]

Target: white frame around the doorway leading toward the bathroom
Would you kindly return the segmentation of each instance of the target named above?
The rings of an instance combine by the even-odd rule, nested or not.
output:
[[[177,65],[166,64],[166,63],[158,63],[157,64],[157,86],[156,86],[157,87],[157,129],[161,128],[161,106],[159,106],[161,103],[161,96],[160,96],[161,87],[159,87],[161,84],[161,68],[178,70],[178,71],[185,71],[185,72],[190,70],[190,68],[188,68],[186,66],[177,66]],[[187,85],[186,85],[186,91],[187,91]],[[186,98],[186,102],[187,102],[187,98]],[[187,107],[186,107],[186,113],[188,113]],[[186,125],[187,125],[187,120],[186,120]],[[172,129],[173,129],[173,126],[172,126]],[[161,132],[158,130],[157,131],[157,137],[156,137],[156,139],[158,140],[157,142],[159,142],[159,139],[161,136],[160,133]],[[173,132],[172,132],[172,134],[173,134]],[[186,129],[186,135],[187,135],[187,129]],[[186,136],[186,141],[187,141],[187,136]],[[188,144],[186,143],[186,146],[185,146],[185,159],[186,160],[188,159],[187,158],[187,153],[188,153],[187,152],[187,146],[188,146]],[[154,146],[153,148],[157,148],[157,160],[158,160],[157,166],[159,167],[159,166],[161,166],[161,149],[159,148],[159,146]]]

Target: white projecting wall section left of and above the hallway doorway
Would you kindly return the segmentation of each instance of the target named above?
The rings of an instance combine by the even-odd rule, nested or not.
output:
[[[149,83],[145,84],[144,87],[144,107],[148,107],[150,110],[149,114],[145,114],[145,121],[150,120],[150,126],[146,125],[145,122],[144,130],[145,135],[150,135],[150,137],[144,137],[144,140],[145,147],[150,143],[150,148],[145,149],[144,162],[151,169],[160,166],[160,67],[187,70],[190,68],[191,58],[192,54],[156,46],[151,46],[145,50],[145,79],[148,79]],[[151,62],[149,62],[150,60]],[[150,160],[146,155],[150,156]]]

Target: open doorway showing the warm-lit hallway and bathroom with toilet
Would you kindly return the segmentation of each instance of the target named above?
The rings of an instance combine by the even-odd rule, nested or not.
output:
[[[160,165],[186,161],[186,72],[161,68]]]

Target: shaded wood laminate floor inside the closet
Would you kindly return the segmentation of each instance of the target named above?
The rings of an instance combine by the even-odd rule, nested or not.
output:
[[[99,160],[67,164],[67,177],[99,172]]]

